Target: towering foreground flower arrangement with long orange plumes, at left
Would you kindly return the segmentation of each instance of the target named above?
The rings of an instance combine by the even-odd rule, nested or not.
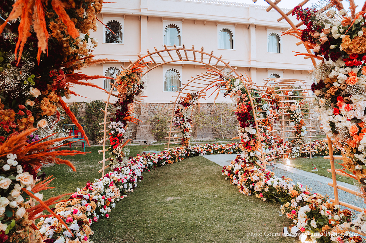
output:
[[[90,30],[96,30],[95,15],[101,11],[102,3],[102,0],[0,3],[1,16],[6,18],[0,25],[1,242],[42,241],[34,220],[45,209],[55,215],[48,206],[64,195],[43,202],[40,192],[49,188],[52,179],[37,172],[47,163],[63,163],[75,170],[70,161],[57,156],[83,154],[51,151],[58,148],[53,147],[55,143],[72,138],[52,134],[57,131],[60,119],[58,107],[64,109],[89,143],[63,97],[70,99],[71,95],[77,95],[70,90],[75,84],[100,88],[82,80],[104,76],[75,71],[87,65],[116,61],[95,60],[92,55],[98,42],[89,35]],[[55,136],[56,139],[51,139]],[[61,224],[66,225],[62,220]]]

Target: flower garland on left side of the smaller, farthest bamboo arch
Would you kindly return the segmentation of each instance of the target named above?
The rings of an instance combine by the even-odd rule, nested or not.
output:
[[[180,97],[181,100],[175,105],[172,121],[173,126],[180,128],[182,132],[183,138],[182,143],[180,143],[182,146],[188,146],[191,139],[192,120],[188,118],[189,108],[201,97],[198,92],[188,93],[184,99]]]

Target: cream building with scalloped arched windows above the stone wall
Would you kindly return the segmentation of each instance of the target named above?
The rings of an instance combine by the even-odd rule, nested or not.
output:
[[[90,34],[98,40],[93,54],[122,63],[86,67],[82,72],[115,77],[121,70],[120,65],[126,67],[129,60],[138,59],[137,54],[146,55],[146,49],[162,50],[164,44],[168,48],[184,44],[186,48],[194,45],[195,49],[203,46],[207,53],[213,51],[217,57],[222,55],[224,61],[230,61],[231,66],[238,67],[239,72],[248,74],[257,84],[271,75],[306,79],[307,70],[312,66],[310,59],[294,57],[292,52],[306,52],[305,47],[296,46],[298,39],[293,36],[281,36],[281,31],[290,26],[285,20],[277,22],[279,13],[273,9],[266,12],[267,7],[209,0],[117,0],[117,3],[104,4],[97,18],[116,35],[98,22],[97,32]],[[165,60],[169,59],[167,53],[162,55]],[[156,61],[161,62],[157,58]],[[145,102],[162,106],[169,103],[176,94],[175,86],[205,72],[201,67],[203,65],[197,63],[181,62],[152,70],[147,75]],[[109,80],[92,82],[110,89]],[[88,98],[72,97],[69,102],[105,100],[107,97],[101,90],[89,87],[78,89],[77,93]],[[231,102],[222,94],[217,100]],[[213,103],[213,96],[200,102]]]

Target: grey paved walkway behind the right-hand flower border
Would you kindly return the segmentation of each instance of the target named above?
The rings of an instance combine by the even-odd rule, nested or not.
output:
[[[216,155],[203,155],[206,159],[217,163],[220,166],[229,165],[230,161],[235,159],[238,154],[216,154]],[[334,198],[333,188],[328,185],[328,182],[332,182],[331,178],[324,177],[321,175],[317,175],[314,173],[310,173],[304,170],[299,170],[291,166],[278,164],[272,166],[267,166],[267,169],[271,170],[276,174],[277,177],[284,175],[285,177],[289,177],[294,182],[300,182],[304,186],[308,186],[312,189],[312,192],[318,192],[322,195],[328,194],[330,198]],[[360,192],[359,188],[355,185],[350,185],[345,182],[337,181],[338,185],[346,186],[352,190],[356,190]],[[340,201],[344,201],[358,207],[364,208],[366,207],[363,199],[361,197],[357,197],[351,193],[344,192],[343,190],[338,190],[338,197]]]

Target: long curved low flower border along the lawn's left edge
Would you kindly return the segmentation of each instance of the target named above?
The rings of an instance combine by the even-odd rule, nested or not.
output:
[[[56,204],[54,212],[66,219],[66,225],[71,231],[63,227],[55,216],[42,217],[37,227],[40,228],[45,240],[49,240],[48,242],[62,243],[75,240],[92,243],[89,240],[89,236],[94,234],[90,229],[92,222],[97,222],[100,217],[108,218],[116,202],[126,197],[128,192],[133,192],[138,182],[141,182],[144,171],[194,156],[240,152],[240,143],[228,143],[195,144],[157,154],[137,155],[104,177],[94,182],[87,182],[85,188],[78,188],[68,200]]]

